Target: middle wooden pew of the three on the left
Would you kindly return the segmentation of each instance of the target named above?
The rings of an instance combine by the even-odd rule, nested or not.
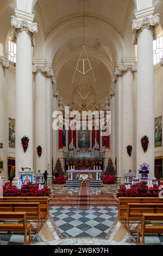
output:
[[[37,228],[32,230],[38,233],[43,226],[42,212],[39,202],[2,202],[0,201],[0,212],[23,212],[26,211],[27,219],[30,222],[37,222]]]

